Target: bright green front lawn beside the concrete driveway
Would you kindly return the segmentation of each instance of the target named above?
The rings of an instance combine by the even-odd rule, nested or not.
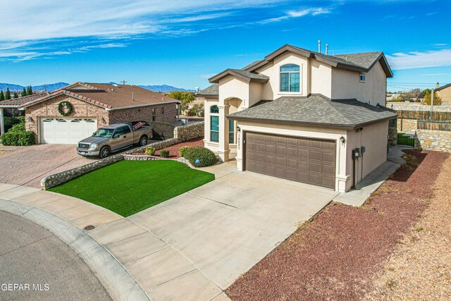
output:
[[[49,190],[130,216],[212,180],[178,161],[120,161]]]

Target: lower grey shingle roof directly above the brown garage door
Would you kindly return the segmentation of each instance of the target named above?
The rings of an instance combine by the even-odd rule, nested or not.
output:
[[[228,118],[354,128],[396,116],[393,110],[382,106],[371,106],[356,99],[330,100],[315,94],[309,97],[280,97],[230,114]]]

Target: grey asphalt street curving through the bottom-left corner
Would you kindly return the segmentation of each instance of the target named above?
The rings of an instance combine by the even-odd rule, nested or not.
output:
[[[27,283],[30,290],[7,291],[4,283]],[[33,284],[40,284],[42,291],[33,291]],[[0,211],[0,285],[0,300],[111,300],[87,264],[65,242],[5,211]]]

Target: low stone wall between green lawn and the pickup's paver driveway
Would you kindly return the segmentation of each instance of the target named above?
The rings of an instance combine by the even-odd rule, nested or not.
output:
[[[201,130],[201,128],[202,128],[202,130]],[[155,149],[163,149],[166,147],[171,147],[172,145],[176,145],[179,142],[183,142],[186,140],[191,140],[191,139],[199,138],[199,137],[203,137],[203,136],[204,136],[204,123],[203,122],[179,126],[174,129],[174,137],[171,139],[154,142],[154,143],[151,143],[150,145],[146,145],[144,147],[137,147],[135,149],[130,149],[129,151],[123,152],[121,154],[109,156],[108,158],[101,159],[99,161],[95,161],[93,163],[86,164],[84,166],[73,168],[68,171],[63,171],[62,173],[56,173],[54,175],[43,178],[41,180],[41,187],[43,190],[46,190],[46,189],[52,188],[56,185],[66,183],[68,180],[72,180],[73,178],[82,176],[85,173],[89,173],[90,171],[95,171],[96,169],[102,168],[104,166],[116,163],[118,161],[122,161],[124,159],[124,155],[132,154],[134,152],[144,152],[147,147],[155,147]],[[183,163],[186,163],[186,162],[183,162]],[[191,164],[190,164],[190,166],[191,166]]]

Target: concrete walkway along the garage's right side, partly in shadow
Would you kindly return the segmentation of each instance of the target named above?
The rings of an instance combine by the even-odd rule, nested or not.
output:
[[[347,205],[362,206],[371,193],[376,191],[397,168],[400,168],[405,163],[404,159],[402,159],[404,155],[402,149],[404,148],[390,147],[390,152],[387,154],[387,161],[360,181],[356,185],[357,189],[342,192],[333,200]]]

